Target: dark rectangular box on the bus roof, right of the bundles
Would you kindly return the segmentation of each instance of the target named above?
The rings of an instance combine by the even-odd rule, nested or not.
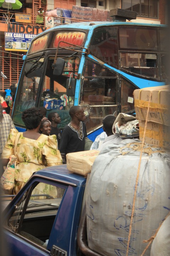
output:
[[[126,20],[136,20],[137,12],[124,10],[124,9],[112,9],[110,11],[110,16],[113,18],[113,21],[116,22],[126,22]]]

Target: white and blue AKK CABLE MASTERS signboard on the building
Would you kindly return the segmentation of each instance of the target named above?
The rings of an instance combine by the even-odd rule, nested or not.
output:
[[[27,52],[36,34],[5,32],[5,50]]]

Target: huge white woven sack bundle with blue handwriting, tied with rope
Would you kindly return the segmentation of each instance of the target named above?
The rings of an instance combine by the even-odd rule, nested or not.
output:
[[[134,143],[134,145],[127,143]],[[89,247],[107,256],[126,255],[141,143],[125,139],[106,145],[97,156],[87,184]],[[130,256],[140,256],[170,208],[170,156],[145,145],[137,185],[129,245]],[[145,256],[150,256],[149,248]]]

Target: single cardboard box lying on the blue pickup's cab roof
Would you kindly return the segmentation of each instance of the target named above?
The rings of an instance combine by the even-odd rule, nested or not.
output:
[[[67,169],[71,172],[87,176],[91,172],[91,167],[99,152],[99,150],[86,150],[68,153],[66,155]]]

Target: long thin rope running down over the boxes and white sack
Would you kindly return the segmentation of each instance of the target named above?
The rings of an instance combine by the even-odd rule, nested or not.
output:
[[[144,128],[143,139],[142,139],[142,144],[141,144],[140,159],[139,159],[139,164],[138,164],[138,169],[137,169],[135,193],[134,193],[134,200],[133,200],[133,206],[132,206],[132,214],[131,214],[131,220],[130,220],[130,226],[129,226],[129,236],[128,236],[128,244],[127,244],[126,256],[128,256],[128,252],[129,252],[130,236],[131,236],[131,231],[132,231],[132,220],[133,220],[133,215],[134,215],[134,210],[135,210],[136,191],[137,191],[137,184],[138,184],[139,172],[140,172],[140,167],[141,167],[141,159],[142,159],[142,153],[143,153],[143,146],[145,144],[145,134],[146,134],[147,121],[148,121],[149,106],[150,106],[150,103],[151,103],[151,95],[152,94],[150,93],[149,101],[148,101],[148,109],[147,109],[146,121],[145,121],[145,128]]]

